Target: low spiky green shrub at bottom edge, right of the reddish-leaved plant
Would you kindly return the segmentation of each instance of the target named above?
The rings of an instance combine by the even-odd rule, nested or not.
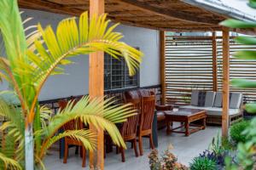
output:
[[[191,170],[216,170],[218,169],[216,161],[213,161],[207,157],[195,157],[191,163],[189,163]]]

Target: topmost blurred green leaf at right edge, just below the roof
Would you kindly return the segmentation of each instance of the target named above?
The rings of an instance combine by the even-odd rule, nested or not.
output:
[[[222,21],[220,25],[227,26],[230,28],[254,28],[256,27],[256,22],[229,19],[229,20]]]

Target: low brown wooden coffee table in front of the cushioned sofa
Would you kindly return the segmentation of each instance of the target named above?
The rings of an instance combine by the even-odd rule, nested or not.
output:
[[[178,111],[164,111],[166,115],[167,129],[166,133],[184,133],[189,136],[190,133],[195,133],[206,128],[207,111],[197,109],[178,109]],[[170,128],[172,122],[181,122],[179,127]],[[193,124],[192,122],[200,122]],[[185,127],[185,131],[177,131],[179,128]],[[194,127],[194,128],[190,128]]]

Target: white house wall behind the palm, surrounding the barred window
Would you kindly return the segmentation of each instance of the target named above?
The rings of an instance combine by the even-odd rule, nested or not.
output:
[[[47,12],[21,9],[25,11],[22,18],[32,17],[29,24],[40,22],[42,26],[56,24],[67,15],[52,14]],[[160,84],[160,62],[159,62],[159,32],[132,26],[119,26],[116,31],[124,34],[123,41],[133,47],[139,47],[143,51],[143,63],[140,70],[140,86]],[[67,75],[49,77],[45,83],[40,100],[56,99],[71,95],[88,94],[88,56],[74,58],[75,65],[66,67]],[[0,85],[0,89],[6,88],[6,84]]]

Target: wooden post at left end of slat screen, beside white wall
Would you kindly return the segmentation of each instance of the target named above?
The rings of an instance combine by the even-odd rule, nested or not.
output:
[[[161,82],[161,105],[166,105],[166,34],[160,31],[160,82]]]

